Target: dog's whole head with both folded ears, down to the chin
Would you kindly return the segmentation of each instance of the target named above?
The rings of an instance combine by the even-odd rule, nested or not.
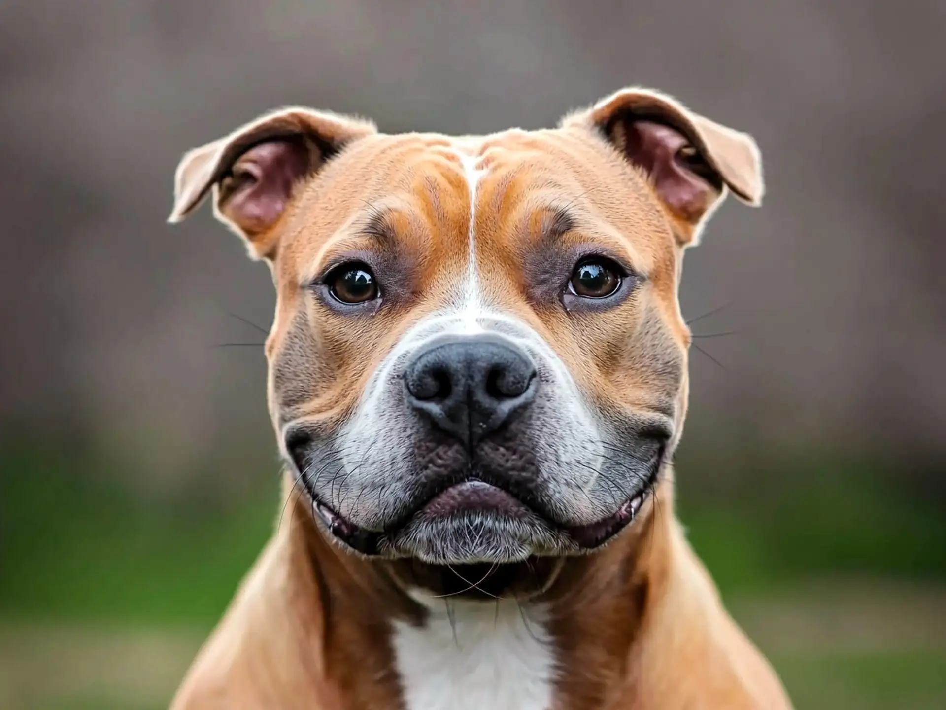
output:
[[[747,135],[625,90],[484,137],[287,110],[188,153],[172,219],[211,189],[271,264],[272,419],[326,532],[496,564],[634,520],[686,410],[683,250],[762,177]]]

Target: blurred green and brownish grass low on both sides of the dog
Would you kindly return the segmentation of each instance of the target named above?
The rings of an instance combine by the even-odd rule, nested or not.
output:
[[[944,708],[941,501],[887,467],[829,461],[684,457],[677,509],[797,707]],[[94,453],[0,453],[0,707],[166,706],[277,513],[274,473],[225,495],[121,481]]]

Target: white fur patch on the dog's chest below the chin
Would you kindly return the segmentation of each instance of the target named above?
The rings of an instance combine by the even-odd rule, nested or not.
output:
[[[515,601],[441,601],[425,626],[398,623],[393,643],[407,710],[552,707],[552,644]]]

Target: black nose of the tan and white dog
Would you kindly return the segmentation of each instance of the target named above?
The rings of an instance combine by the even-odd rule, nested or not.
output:
[[[404,375],[412,407],[472,448],[535,397],[535,365],[496,336],[457,336],[413,356]]]

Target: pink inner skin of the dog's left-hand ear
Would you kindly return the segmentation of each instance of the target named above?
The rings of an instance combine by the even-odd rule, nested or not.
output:
[[[310,154],[302,139],[261,143],[239,157],[236,184],[220,210],[248,234],[271,227],[289,203],[292,187],[307,173]]]

